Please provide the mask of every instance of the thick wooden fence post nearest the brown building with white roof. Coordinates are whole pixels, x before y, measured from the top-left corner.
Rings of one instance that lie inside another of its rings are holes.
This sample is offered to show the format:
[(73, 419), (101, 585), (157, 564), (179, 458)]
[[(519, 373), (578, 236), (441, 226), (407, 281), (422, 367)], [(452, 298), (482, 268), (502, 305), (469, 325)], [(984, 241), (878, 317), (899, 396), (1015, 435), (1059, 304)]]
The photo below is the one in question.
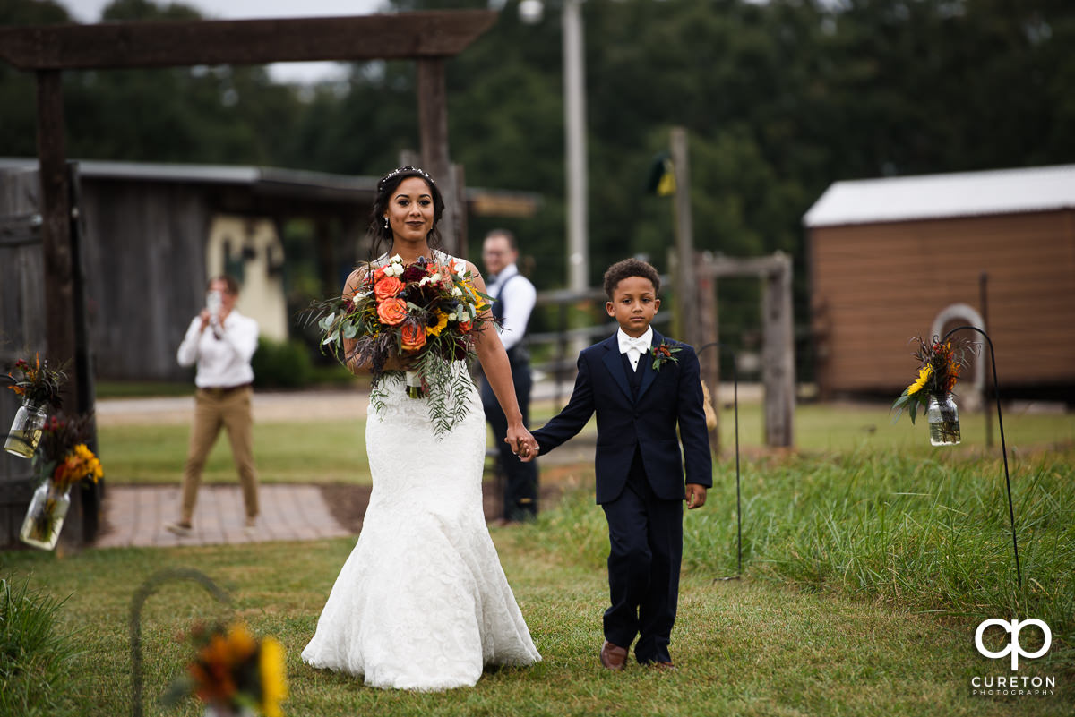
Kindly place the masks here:
[(765, 383), (765, 444), (794, 444), (796, 365), (791, 317), (791, 258), (777, 252), (764, 274), (762, 314)]

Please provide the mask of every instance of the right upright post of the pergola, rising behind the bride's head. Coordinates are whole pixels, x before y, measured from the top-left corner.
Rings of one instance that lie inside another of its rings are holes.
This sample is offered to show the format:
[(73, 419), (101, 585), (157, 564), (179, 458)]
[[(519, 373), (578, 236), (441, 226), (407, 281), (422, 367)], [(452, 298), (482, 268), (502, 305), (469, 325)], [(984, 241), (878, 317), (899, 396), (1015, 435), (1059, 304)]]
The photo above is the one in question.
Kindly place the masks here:
[(448, 159), (448, 97), (444, 77), (444, 58), (418, 60), (418, 131), (422, 169), (436, 181), (444, 197), (441, 219), (443, 249), (459, 257), (455, 181)]

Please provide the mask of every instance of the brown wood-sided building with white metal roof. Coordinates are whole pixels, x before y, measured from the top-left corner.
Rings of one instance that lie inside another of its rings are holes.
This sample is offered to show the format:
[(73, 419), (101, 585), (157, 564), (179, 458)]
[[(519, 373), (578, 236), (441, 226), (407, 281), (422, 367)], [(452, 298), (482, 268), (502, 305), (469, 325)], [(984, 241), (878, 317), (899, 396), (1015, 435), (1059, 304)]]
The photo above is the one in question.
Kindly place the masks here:
[(970, 324), (1002, 396), (1075, 403), (1075, 165), (838, 181), (804, 223), (822, 397), (894, 398), (908, 339)]

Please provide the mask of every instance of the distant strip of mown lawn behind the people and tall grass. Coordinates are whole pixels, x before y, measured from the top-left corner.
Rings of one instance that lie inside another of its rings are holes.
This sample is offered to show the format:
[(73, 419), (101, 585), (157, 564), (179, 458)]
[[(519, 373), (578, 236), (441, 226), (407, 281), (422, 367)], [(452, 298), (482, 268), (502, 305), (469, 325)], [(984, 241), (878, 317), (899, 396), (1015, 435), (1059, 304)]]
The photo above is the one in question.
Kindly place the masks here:
[[(534, 406), (533, 423), (553, 415), (549, 401)], [(1000, 434), (991, 414), (995, 450)], [(762, 410), (758, 403), (740, 407), (740, 445), (744, 454), (763, 449)], [(735, 447), (734, 413), (720, 411), (721, 455), (731, 457)], [(1038, 413), (1027, 410), (1004, 416), (1008, 451), (1018, 455), (1035, 447), (1075, 441), (1075, 413)], [(943, 449), (946, 455), (977, 456), (986, 451), (985, 416), (963, 412), (963, 443)], [(587, 433), (594, 433), (591, 421)], [(178, 483), (183, 474), (190, 427), (186, 424), (101, 426), (99, 443), (106, 478), (115, 483)], [(491, 439), (490, 439), (491, 441)], [(490, 442), (491, 444), (491, 442)], [(893, 424), (888, 407), (858, 404), (807, 404), (796, 411), (796, 447), (805, 453), (844, 453), (898, 449), (916, 456), (935, 455), (929, 444), (924, 420), (916, 425), (904, 416)], [(254, 450), (258, 472), (266, 483), (359, 483), (368, 485), (364, 421), (257, 423)], [(229, 483), (235, 470), (227, 438), (221, 434), (210, 454), (204, 480)]]

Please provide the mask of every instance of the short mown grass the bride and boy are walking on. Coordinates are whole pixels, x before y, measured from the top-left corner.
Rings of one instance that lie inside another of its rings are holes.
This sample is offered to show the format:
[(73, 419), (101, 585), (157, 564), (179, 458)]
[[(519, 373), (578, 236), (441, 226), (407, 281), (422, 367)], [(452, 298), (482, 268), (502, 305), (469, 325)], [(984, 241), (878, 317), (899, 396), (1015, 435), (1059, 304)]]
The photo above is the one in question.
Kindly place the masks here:
[[(596, 508), (593, 510), (597, 510)], [(688, 525), (693, 518), (688, 518)], [(312, 670), (302, 647), (352, 540), (298, 544), (89, 551), (66, 559), (5, 555), (4, 570), (31, 575), (70, 596), (60, 623), (81, 653), (77, 676), (55, 715), (129, 714), (127, 618), (133, 587), (156, 570), (195, 566), (234, 596), (230, 613), (198, 586), (161, 586), (143, 613), (147, 715), (200, 715), (188, 701), (154, 702), (175, 678), (186, 648), (175, 633), (198, 618), (233, 615), (287, 649), (290, 715), (1059, 715), (1064, 699), (1018, 702), (972, 698), (973, 674), (989, 665), (965, 625), (929, 615), (787, 589), (747, 575), (714, 583), (689, 571), (680, 588), (673, 654), (680, 669), (629, 665), (622, 674), (597, 661), (603, 570), (565, 556), (530, 530), (494, 538), (543, 661), (487, 673), (474, 689), (420, 694), (382, 691), (353, 677)], [(1071, 689), (1071, 677), (1066, 683)]]

